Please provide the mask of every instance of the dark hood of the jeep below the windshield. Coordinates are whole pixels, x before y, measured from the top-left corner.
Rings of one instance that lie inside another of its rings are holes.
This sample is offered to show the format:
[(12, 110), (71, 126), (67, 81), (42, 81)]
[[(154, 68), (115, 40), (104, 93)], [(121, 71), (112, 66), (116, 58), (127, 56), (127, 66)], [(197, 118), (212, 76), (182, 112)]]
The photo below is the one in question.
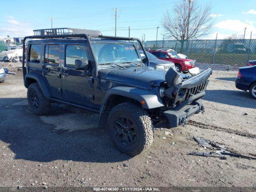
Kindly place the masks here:
[[(130, 86), (148, 89), (150, 85), (160, 86), (165, 81), (167, 70), (152, 67), (106, 68), (98, 71), (100, 79), (112, 80)], [(180, 73), (179, 73), (180, 74)], [(182, 78), (188, 78), (180, 74)]]

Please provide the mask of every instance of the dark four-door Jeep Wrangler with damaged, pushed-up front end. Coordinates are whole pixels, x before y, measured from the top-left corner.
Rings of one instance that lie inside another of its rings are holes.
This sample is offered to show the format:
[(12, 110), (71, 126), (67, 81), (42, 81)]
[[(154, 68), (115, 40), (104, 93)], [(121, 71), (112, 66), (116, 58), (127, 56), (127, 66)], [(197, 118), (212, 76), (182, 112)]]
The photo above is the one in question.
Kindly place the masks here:
[(47, 114), (51, 102), (98, 113), (117, 148), (134, 156), (152, 144), (154, 126), (184, 125), (204, 111), (199, 99), (211, 69), (188, 76), (151, 68), (137, 38), (74, 28), (34, 34), (24, 38), (22, 67), (28, 103), (37, 115)]

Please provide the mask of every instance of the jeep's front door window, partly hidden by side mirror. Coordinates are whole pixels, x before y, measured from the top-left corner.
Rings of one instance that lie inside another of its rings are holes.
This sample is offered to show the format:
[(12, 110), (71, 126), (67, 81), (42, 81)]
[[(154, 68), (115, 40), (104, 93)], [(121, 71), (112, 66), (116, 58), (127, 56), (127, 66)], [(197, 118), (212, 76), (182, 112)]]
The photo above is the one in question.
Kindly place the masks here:
[(84, 45), (66, 46), (66, 65), (75, 66), (75, 60), (88, 60)]

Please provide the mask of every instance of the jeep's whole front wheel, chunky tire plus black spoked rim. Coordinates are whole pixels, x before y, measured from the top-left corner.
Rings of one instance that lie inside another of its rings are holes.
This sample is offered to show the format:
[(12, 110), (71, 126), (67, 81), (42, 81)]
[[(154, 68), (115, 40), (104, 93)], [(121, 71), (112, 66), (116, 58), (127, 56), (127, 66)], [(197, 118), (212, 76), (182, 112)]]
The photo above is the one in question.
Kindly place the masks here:
[(108, 132), (116, 147), (135, 156), (153, 142), (153, 126), (148, 113), (133, 103), (115, 106), (108, 116)]

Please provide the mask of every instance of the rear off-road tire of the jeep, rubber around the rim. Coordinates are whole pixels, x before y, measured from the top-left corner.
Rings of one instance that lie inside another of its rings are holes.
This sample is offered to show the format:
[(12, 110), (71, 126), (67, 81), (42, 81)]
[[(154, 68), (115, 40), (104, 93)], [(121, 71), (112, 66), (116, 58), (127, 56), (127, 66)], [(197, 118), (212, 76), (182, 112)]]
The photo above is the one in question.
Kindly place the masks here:
[[(31, 100), (31, 94), (35, 93), (38, 98), (38, 107), (34, 107), (33, 101)], [(38, 83), (32, 83), (28, 86), (28, 104), (32, 112), (36, 115), (45, 115), (50, 112), (51, 102), (42, 93)]]

